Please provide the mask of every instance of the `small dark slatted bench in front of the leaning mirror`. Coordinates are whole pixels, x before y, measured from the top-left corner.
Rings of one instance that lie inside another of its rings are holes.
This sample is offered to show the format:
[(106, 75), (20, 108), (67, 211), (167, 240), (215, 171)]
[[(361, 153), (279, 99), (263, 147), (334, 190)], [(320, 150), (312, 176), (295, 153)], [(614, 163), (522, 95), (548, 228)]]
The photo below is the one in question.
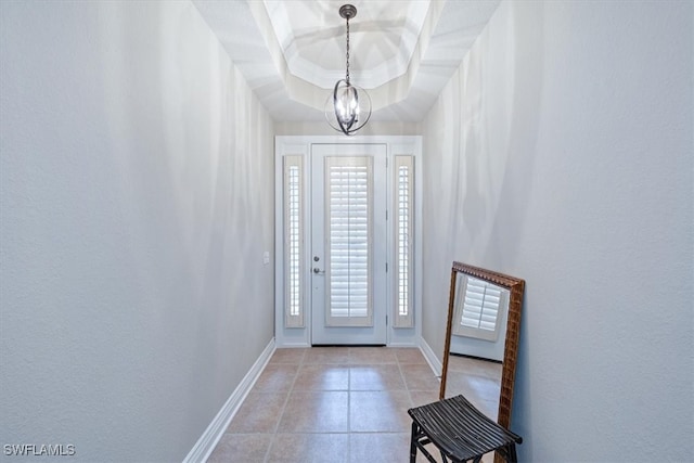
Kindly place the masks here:
[(415, 463), (417, 449), (437, 463), (424, 447), (428, 443), (439, 450), (445, 463), (477, 463), (494, 450), (507, 462), (517, 461), (516, 443), (522, 443), (523, 438), (487, 417), (463, 396), (410, 409), (408, 413), (412, 417), (410, 463)]

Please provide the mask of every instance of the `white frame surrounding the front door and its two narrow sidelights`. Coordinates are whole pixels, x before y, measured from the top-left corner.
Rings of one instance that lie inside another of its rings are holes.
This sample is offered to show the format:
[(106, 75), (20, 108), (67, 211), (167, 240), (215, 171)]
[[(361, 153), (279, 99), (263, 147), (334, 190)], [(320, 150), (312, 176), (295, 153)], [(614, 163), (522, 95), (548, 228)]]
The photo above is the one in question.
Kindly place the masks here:
[[(386, 157), (388, 166), (394, 166), (394, 157), (397, 155), (409, 155), (414, 159), (414, 241), (413, 241), (413, 326), (412, 327), (395, 327), (390, 320), (393, 312), (393, 279), (388, 279), (387, 287), (387, 313), (388, 324), (386, 326), (386, 345), (416, 347), (420, 344), (422, 334), (422, 137), (420, 136), (278, 136), (274, 139), (274, 204), (275, 204), (275, 313), (274, 313), (274, 337), (277, 347), (309, 347), (311, 345), (311, 279), (305, 278), (301, 283), (304, 294), (303, 308), (304, 324), (297, 327), (287, 327), (285, 324), (284, 303), (284, 157), (300, 156), (303, 157), (303, 176), (307, 181), (304, 182), (305, 191), (303, 194), (303, 207), (306, 211), (310, 210), (311, 184), (311, 146), (313, 144), (385, 144)], [(391, 172), (389, 167), (388, 172)], [(388, 173), (390, 175), (390, 173)], [(393, 189), (388, 191), (388, 204), (391, 204)], [(389, 213), (393, 216), (393, 213)], [(393, 236), (394, 220), (387, 222), (387, 233)], [(305, 268), (310, 269), (311, 259), (311, 236), (310, 236), (310, 214), (304, 214), (304, 247), (301, 257), (306, 262)], [(387, 262), (388, 268), (393, 268), (393, 245), (388, 246)], [(308, 271), (308, 270), (307, 270)]]

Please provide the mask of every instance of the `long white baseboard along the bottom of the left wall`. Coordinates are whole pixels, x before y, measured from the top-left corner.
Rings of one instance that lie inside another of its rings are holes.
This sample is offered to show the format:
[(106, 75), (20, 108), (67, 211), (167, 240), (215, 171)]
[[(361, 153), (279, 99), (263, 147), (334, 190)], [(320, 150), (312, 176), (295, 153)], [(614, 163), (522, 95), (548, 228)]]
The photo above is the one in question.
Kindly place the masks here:
[(260, 376), (268, 361), (270, 361), (274, 349), (274, 338), (272, 338), (262, 353), (260, 353), (260, 357), (258, 357), (258, 360), (256, 360), (248, 373), (243, 377), (241, 384), (239, 384), (221, 410), (219, 410), (217, 416), (215, 416), (209, 426), (207, 426), (207, 429), (205, 429), (200, 439), (197, 439), (197, 442), (195, 442), (195, 446), (188, 453), (183, 463), (204, 463), (207, 461), (215, 450), (215, 447), (217, 447), (217, 442), (219, 442), (219, 439), (223, 436), (224, 430), (229, 427), (229, 423), (231, 423), (231, 420), (246, 399), (253, 385), (256, 384), (258, 376)]

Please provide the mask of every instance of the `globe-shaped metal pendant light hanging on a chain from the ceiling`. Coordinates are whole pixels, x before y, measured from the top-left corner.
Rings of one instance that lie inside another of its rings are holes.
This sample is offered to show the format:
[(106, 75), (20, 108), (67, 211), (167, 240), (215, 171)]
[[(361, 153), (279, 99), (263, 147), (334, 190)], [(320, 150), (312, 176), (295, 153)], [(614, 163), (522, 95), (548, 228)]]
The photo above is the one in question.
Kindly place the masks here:
[(349, 81), (349, 20), (357, 15), (357, 9), (344, 4), (339, 8), (339, 15), (347, 21), (347, 70), (345, 78), (337, 80), (333, 93), (325, 101), (325, 118), (333, 129), (350, 136), (369, 121), (371, 98), (364, 89)]

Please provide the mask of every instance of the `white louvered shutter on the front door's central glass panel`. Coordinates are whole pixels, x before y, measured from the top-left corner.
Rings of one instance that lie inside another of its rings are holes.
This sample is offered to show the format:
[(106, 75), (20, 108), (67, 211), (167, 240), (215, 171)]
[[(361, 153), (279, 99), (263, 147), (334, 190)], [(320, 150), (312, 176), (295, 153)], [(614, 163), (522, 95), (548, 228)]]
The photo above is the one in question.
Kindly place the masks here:
[(325, 158), (327, 326), (373, 325), (373, 160)]

